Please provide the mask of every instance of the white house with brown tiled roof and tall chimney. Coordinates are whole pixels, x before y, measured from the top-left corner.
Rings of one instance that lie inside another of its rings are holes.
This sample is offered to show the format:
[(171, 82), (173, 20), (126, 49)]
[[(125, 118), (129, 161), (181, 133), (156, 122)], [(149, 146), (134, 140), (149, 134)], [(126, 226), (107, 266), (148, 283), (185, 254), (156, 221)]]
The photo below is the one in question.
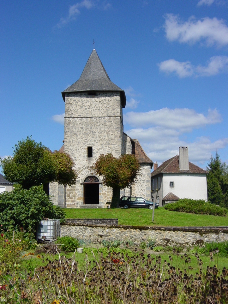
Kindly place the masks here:
[(151, 173), (151, 198), (164, 206), (179, 198), (203, 199), (207, 201), (208, 172), (188, 160), (188, 147), (179, 147), (176, 155), (161, 166), (154, 164)]

